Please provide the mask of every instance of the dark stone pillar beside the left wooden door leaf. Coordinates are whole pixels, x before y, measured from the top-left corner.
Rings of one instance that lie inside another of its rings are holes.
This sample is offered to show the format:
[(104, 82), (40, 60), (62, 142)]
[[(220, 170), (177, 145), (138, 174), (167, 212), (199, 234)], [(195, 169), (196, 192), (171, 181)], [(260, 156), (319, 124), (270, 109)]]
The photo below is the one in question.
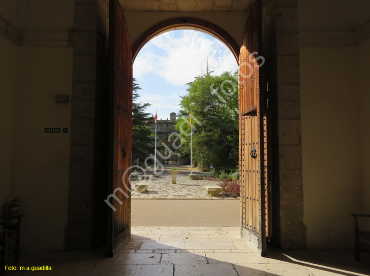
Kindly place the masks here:
[(75, 0), (67, 249), (106, 240), (109, 163), (109, 1)]

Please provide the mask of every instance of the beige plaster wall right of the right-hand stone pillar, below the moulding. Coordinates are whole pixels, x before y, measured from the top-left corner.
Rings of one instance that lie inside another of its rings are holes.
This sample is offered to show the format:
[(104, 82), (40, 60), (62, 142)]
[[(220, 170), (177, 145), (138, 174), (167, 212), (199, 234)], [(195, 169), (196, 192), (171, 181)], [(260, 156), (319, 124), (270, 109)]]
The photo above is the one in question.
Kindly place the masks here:
[(304, 223), (311, 249), (352, 248), (351, 213), (364, 210), (361, 199), (369, 198), (365, 49), (300, 49)]

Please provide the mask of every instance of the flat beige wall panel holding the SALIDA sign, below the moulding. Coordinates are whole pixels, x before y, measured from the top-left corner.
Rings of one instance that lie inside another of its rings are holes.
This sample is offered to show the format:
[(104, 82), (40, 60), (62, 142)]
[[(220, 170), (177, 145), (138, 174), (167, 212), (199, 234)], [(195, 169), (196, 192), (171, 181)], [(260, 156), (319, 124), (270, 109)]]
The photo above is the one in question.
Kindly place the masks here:
[(12, 196), (20, 197), (22, 246), (63, 249), (67, 224), (70, 134), (44, 128), (69, 128), (72, 48), (18, 47)]

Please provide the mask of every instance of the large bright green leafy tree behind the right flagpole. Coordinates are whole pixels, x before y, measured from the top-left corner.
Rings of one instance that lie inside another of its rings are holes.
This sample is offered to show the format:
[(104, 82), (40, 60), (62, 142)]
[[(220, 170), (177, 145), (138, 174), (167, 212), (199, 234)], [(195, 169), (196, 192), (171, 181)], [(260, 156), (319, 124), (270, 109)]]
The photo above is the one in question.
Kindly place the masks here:
[(190, 110), (193, 116), (193, 161), (204, 164), (235, 165), (238, 161), (238, 81), (235, 73), (212, 72), (197, 76), (188, 83), (182, 97), (177, 130), (183, 138), (182, 155), (190, 154)]

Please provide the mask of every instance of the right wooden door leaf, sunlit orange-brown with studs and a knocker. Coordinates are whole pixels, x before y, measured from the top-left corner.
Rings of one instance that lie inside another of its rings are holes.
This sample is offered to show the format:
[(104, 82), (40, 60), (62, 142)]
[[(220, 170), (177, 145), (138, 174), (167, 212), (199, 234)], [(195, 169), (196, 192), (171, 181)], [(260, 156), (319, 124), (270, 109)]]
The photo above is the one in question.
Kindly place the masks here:
[(239, 58), (241, 239), (264, 255), (268, 231), (267, 108), (264, 108), (260, 0), (248, 17)]

